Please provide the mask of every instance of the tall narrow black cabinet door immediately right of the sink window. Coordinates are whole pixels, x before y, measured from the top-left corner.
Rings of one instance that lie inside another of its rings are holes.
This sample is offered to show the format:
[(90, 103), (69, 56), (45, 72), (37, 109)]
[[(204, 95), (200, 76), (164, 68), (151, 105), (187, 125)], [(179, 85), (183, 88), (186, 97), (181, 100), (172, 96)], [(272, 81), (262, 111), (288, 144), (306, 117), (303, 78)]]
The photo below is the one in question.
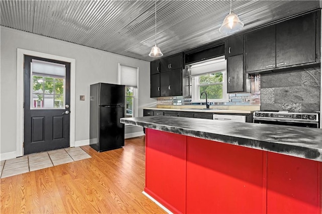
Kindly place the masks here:
[(243, 54), (227, 58), (227, 93), (244, 92)]

